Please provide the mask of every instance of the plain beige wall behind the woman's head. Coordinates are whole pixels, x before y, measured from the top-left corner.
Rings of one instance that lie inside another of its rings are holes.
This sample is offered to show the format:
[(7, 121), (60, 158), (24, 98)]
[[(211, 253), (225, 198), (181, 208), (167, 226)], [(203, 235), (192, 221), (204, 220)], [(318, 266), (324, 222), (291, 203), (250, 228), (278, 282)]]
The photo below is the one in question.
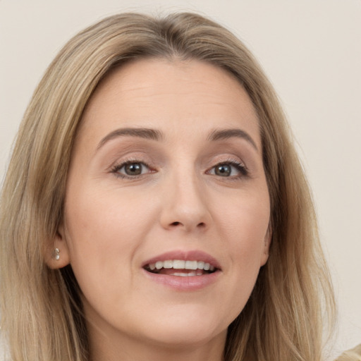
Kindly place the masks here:
[(119, 11), (178, 10), (233, 30), (276, 87), (334, 277), (334, 348), (361, 343), (361, 0), (0, 0), (0, 178), (32, 91), (66, 40)]

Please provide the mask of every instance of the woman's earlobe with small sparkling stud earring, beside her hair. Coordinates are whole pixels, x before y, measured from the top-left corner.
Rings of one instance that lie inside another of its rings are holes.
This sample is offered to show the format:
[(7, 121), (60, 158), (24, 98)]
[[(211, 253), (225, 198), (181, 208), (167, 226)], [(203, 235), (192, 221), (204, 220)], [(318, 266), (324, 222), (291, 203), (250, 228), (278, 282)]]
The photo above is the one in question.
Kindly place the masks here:
[(60, 269), (70, 263), (68, 244), (63, 226), (59, 227), (54, 240), (50, 240), (45, 250), (45, 263), (51, 269)]

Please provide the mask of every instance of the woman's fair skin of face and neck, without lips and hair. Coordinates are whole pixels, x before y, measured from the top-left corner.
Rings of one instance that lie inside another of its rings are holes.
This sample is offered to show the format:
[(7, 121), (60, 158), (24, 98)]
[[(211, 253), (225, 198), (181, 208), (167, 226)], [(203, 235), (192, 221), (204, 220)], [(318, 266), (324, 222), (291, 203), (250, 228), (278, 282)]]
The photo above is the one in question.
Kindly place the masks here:
[[(161, 139), (109, 136), (120, 128)], [(229, 129), (248, 138), (209, 140)], [(140, 164), (140, 175), (127, 176), (124, 162)], [(55, 240), (61, 259), (49, 260), (73, 267), (92, 360), (222, 360), (227, 327), (267, 262), (269, 212), (257, 115), (237, 80), (198, 61), (136, 61), (109, 74), (82, 118)], [(142, 268), (193, 250), (220, 266), (196, 290)]]

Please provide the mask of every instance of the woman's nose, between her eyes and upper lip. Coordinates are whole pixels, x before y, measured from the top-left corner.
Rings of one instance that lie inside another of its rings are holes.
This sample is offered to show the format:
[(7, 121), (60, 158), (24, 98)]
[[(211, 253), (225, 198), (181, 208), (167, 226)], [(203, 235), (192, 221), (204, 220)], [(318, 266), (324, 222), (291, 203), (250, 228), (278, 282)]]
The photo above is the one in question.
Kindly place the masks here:
[(187, 232), (206, 229), (212, 221), (206, 193), (195, 175), (171, 177), (163, 192), (161, 226)]

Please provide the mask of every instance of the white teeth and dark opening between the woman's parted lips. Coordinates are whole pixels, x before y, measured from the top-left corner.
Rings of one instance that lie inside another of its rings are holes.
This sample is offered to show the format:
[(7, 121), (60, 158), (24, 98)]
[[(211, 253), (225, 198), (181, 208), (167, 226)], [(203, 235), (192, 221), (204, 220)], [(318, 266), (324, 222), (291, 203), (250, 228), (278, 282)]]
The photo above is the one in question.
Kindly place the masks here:
[(164, 261), (152, 262), (145, 264), (143, 269), (152, 274), (178, 277), (204, 276), (219, 270), (214, 264), (209, 262), (184, 259), (166, 259)]

